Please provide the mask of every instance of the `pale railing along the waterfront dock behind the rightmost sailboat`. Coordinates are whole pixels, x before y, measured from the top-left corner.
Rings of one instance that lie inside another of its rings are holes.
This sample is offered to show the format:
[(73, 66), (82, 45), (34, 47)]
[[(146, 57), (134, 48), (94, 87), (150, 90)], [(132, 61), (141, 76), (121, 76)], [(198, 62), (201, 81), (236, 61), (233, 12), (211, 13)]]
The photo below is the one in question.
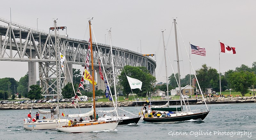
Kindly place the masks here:
[[(205, 96), (204, 96), (205, 98)], [(187, 98), (184, 98), (185, 100), (187, 100)], [(202, 96), (198, 96), (198, 97), (188, 97), (188, 100), (202, 100), (203, 97)], [(169, 100), (180, 100), (180, 97), (169, 97)], [(132, 98), (132, 102), (147, 102), (147, 101), (167, 101), (167, 97), (159, 97), (159, 98)]]

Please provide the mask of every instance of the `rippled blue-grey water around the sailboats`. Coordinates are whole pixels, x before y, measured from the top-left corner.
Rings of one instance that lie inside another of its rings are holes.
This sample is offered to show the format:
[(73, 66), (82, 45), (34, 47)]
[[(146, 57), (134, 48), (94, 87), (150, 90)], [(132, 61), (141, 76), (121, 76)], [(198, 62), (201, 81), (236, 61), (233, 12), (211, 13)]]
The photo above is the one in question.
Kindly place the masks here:
[[(190, 107), (197, 108), (198, 105), (190, 105)], [(163, 124), (139, 121), (138, 125), (118, 126), (114, 131), (78, 134), (57, 130), (26, 130), (23, 128), (23, 119), (30, 110), (0, 110), (2, 119), (0, 139), (256, 139), (255, 103), (214, 104), (208, 107), (211, 107), (211, 111), (203, 121)], [(137, 107), (123, 109), (138, 114)], [(82, 112), (86, 110), (88, 109), (81, 109)], [(78, 111), (78, 109), (65, 109), (66, 114), (78, 113)], [(35, 113), (36, 110), (32, 110), (32, 114)]]

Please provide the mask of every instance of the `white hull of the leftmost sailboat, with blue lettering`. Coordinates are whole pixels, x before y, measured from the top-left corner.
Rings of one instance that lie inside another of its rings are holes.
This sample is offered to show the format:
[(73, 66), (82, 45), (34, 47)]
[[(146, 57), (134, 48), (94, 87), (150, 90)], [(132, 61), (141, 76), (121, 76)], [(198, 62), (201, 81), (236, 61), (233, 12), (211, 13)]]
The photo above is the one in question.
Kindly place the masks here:
[(36, 122), (25, 122), (23, 127), (27, 130), (56, 129), (57, 126), (64, 126), (66, 123), (68, 123), (67, 119), (46, 119), (37, 120)]

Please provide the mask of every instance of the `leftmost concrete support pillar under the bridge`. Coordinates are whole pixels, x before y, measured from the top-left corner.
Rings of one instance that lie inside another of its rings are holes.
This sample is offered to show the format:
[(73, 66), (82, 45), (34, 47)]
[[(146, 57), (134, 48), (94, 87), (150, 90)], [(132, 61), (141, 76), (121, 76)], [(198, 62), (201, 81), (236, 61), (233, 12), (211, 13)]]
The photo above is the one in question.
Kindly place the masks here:
[(36, 85), (36, 62), (28, 62), (28, 85)]

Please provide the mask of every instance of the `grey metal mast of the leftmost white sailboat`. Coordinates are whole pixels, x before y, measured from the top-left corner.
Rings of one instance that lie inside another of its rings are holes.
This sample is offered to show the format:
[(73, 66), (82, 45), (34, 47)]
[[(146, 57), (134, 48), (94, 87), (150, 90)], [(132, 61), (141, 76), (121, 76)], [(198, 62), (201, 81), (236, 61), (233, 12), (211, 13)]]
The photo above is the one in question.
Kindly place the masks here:
[(60, 94), (60, 60), (59, 60), (59, 56), (60, 56), (60, 49), (59, 49), (59, 45), (57, 46), (57, 27), (56, 27), (56, 20), (54, 20), (54, 35), (55, 35), (55, 57), (56, 57), (56, 82), (57, 82), (57, 99), (58, 99), (58, 104), (57, 104), (57, 114), (58, 114), (58, 118), (60, 118), (60, 111), (59, 111), (59, 94)]

